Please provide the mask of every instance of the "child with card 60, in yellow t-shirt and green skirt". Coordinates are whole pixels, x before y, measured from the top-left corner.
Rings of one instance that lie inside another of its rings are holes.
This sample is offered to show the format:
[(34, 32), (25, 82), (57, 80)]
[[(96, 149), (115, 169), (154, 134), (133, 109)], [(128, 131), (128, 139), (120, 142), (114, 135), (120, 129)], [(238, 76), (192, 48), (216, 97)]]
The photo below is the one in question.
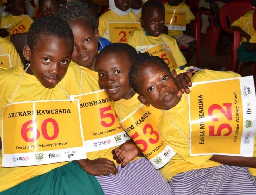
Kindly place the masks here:
[[(60, 88), (56, 84), (67, 71), (73, 48), (72, 30), (63, 20), (45, 16), (31, 24), (28, 45), (24, 46), (24, 57), (30, 66), (25, 71), (23, 67), (0, 68), (0, 113), (8, 103), (51, 99), (53, 88)], [(61, 89), (59, 92), (63, 93)], [(1, 128), (2, 125), (2, 136)], [(0, 194), (86, 192), (103, 195), (95, 177), (87, 174), (75, 161), (25, 167), (0, 166), (0, 191)]]

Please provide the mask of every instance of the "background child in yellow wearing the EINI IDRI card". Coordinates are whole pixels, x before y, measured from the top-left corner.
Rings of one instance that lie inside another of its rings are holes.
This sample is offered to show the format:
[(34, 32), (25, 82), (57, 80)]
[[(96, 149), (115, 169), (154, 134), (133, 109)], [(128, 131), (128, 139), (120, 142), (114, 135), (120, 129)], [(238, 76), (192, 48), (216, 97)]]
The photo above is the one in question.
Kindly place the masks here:
[(134, 30), (128, 44), (137, 51), (143, 52), (157, 44), (166, 43), (172, 50), (172, 55), (179, 68), (187, 64), (174, 38), (162, 33), (164, 30), (165, 8), (158, 0), (149, 0), (142, 6), (141, 27)]

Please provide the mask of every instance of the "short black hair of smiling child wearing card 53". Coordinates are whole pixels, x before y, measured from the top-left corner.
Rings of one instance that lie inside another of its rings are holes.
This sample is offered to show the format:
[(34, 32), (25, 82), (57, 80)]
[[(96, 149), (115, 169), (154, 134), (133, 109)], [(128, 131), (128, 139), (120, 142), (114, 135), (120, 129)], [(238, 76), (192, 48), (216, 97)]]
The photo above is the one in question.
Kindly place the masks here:
[(97, 59), (109, 53), (124, 53), (126, 57), (126, 59), (124, 60), (127, 60), (130, 65), (132, 65), (136, 61), (137, 51), (134, 49), (133, 46), (130, 46), (126, 43), (112, 43), (110, 45), (107, 45), (100, 51)]

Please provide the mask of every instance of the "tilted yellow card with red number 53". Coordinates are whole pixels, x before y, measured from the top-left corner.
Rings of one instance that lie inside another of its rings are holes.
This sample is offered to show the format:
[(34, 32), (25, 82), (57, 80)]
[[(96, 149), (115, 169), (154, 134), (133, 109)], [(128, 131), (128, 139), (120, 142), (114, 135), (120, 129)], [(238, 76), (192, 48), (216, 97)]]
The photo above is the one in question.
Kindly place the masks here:
[(142, 104), (119, 122), (155, 169), (163, 167), (175, 155), (157, 131), (161, 114), (162, 110)]

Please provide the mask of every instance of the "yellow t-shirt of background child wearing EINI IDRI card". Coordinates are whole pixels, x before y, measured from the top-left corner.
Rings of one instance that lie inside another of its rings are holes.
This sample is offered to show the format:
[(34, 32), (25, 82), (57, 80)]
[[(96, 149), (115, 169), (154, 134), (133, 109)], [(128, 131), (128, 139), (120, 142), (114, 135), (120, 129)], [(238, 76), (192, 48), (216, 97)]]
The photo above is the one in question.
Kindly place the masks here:
[(179, 46), (176, 40), (164, 33), (158, 37), (147, 36), (144, 29), (137, 29), (131, 33), (131, 36), (128, 40), (128, 44), (133, 46), (137, 51), (143, 52), (146, 49), (151, 48), (154, 45), (161, 43), (166, 43), (172, 50), (172, 55), (175, 58), (175, 61), (178, 67), (181, 67), (187, 64), (185, 57), (182, 52), (179, 50)]

